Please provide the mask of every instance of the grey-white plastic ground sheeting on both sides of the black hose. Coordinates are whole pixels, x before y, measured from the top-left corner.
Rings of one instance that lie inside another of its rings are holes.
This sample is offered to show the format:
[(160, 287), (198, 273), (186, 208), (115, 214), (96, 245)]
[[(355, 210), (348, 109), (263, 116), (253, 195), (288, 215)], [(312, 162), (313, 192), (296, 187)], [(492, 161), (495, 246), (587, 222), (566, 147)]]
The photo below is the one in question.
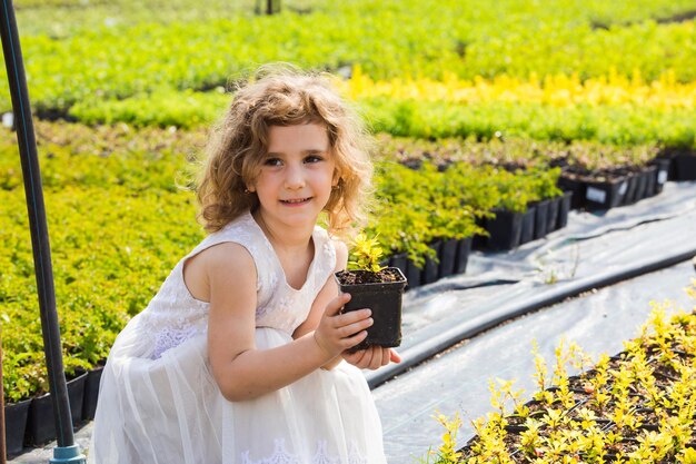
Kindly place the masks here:
[[(669, 182), (628, 207), (574, 211), (568, 227), (545, 239), (510, 253), (475, 253), (466, 275), (407, 293), (400, 349), (417, 352), (457, 325), (524, 306), (554, 287), (689, 250), (696, 250), (696, 182)], [(650, 299), (678, 299), (690, 309), (683, 288), (693, 276), (685, 263), (588, 293), (489, 329), (377, 387), (389, 463), (411, 463), (438, 444), (436, 411), (463, 415), (464, 444), (468, 421), (490, 411), (489, 378), (518, 378), (518, 387), (535, 391), (534, 338), (549, 364), (561, 337), (590, 353), (616, 353), (647, 318)]]

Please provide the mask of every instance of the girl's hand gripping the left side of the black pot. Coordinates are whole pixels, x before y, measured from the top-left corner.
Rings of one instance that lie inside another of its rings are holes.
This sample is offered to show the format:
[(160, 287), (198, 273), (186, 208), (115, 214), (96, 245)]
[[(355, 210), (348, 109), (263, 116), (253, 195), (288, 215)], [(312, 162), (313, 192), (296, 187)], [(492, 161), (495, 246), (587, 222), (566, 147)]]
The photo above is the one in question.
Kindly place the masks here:
[(334, 358), (352, 348), (367, 337), (367, 330), (372, 325), (372, 314), (369, 309), (358, 309), (340, 314), (341, 308), (350, 300), (349, 294), (341, 294), (327, 306), (319, 325), (315, 330), (317, 345), (330, 358)]

